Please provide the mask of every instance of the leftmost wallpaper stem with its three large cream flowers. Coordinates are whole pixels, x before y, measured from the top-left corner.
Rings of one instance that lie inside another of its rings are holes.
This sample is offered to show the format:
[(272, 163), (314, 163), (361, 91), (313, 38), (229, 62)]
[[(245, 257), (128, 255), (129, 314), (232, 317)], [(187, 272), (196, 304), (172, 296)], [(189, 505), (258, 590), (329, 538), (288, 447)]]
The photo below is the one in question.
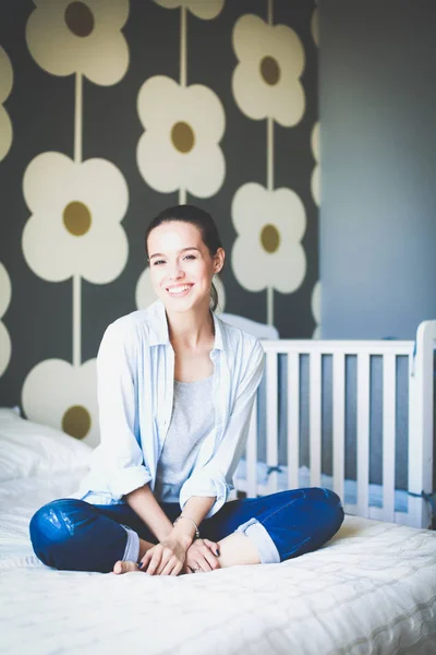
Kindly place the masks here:
[[(23, 179), (32, 212), (23, 230), (24, 258), (35, 275), (47, 282), (72, 279), (73, 355), (72, 362), (56, 358), (55, 353), (53, 358), (38, 362), (24, 380), (22, 404), (29, 418), (90, 445), (99, 438), (96, 359), (82, 362), (82, 278), (108, 284), (121, 274), (129, 257), (121, 226), (129, 205), (124, 177), (111, 162), (82, 158), (83, 75), (95, 84), (110, 85), (119, 82), (129, 67), (121, 33), (129, 2), (111, 0), (110, 4), (92, 0), (66, 8), (41, 3), (26, 26), (35, 61), (51, 74), (75, 75), (74, 158), (43, 152), (28, 164)], [(50, 34), (48, 25), (53, 29)]]

